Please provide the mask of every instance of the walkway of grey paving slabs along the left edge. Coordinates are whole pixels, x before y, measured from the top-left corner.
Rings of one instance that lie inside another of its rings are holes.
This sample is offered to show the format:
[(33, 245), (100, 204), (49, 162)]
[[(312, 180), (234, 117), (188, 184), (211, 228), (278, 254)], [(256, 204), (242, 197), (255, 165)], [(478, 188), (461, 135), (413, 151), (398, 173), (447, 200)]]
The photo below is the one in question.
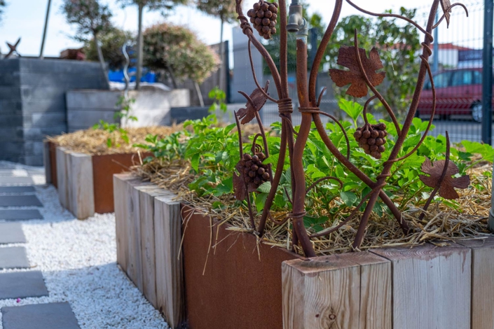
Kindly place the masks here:
[[(22, 221), (42, 219), (33, 174), (0, 167), (0, 300), (48, 296), (43, 273), (30, 269)], [(2, 307), (4, 329), (79, 329), (68, 302)]]

